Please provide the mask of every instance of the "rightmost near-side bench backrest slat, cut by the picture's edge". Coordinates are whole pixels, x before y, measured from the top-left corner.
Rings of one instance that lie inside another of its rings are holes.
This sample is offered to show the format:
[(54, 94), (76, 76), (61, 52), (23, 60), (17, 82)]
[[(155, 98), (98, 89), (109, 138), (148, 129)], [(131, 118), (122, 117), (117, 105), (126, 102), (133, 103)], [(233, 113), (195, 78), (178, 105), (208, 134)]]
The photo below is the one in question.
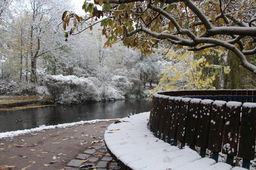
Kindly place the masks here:
[(238, 156), (253, 160), (256, 136), (256, 103), (244, 103), (242, 107)]

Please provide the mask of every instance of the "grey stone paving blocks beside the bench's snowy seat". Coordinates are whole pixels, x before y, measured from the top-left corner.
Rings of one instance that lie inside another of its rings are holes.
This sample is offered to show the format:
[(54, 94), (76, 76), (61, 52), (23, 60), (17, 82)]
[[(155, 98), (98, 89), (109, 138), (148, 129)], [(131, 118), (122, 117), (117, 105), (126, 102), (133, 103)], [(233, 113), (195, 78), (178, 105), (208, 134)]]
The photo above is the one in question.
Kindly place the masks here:
[(105, 145), (99, 143), (89, 148), (90, 149), (86, 149), (75, 159), (72, 159), (67, 164), (67, 167), (70, 168), (66, 168), (66, 170), (88, 169), (88, 167), (91, 167), (92, 169), (95, 167), (97, 170), (121, 169), (118, 163), (109, 155)]

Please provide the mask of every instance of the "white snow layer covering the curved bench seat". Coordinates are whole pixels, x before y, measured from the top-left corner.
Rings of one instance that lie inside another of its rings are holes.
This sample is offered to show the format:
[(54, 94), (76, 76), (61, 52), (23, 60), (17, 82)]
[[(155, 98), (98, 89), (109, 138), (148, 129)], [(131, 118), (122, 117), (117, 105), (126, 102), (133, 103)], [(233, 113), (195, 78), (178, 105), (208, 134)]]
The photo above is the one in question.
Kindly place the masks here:
[[(202, 158), (185, 146), (179, 149), (154, 137), (148, 129), (150, 112), (120, 119), (105, 131), (104, 139), (108, 150), (118, 163), (134, 170), (230, 170), (226, 163), (216, 163), (213, 159)], [(234, 169), (233, 170), (242, 170)]]

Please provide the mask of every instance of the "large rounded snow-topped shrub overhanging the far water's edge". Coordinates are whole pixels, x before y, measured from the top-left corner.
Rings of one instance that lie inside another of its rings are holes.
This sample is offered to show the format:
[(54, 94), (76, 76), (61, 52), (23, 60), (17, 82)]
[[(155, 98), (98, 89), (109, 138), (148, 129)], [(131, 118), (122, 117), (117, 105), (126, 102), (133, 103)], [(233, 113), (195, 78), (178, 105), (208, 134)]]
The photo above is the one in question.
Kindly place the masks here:
[(88, 78), (51, 75), (45, 78), (45, 85), (57, 103), (71, 104), (85, 101), (99, 101), (97, 89)]

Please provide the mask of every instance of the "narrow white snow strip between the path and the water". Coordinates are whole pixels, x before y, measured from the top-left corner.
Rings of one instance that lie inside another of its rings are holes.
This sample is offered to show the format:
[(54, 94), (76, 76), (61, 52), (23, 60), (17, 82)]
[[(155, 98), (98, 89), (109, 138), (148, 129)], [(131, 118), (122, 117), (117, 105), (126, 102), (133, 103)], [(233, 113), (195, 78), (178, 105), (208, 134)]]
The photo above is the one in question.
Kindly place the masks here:
[(0, 133), (0, 139), (13, 137), (13, 136), (18, 136), (20, 134), (34, 133), (36, 131), (43, 131), (43, 130), (47, 130), (47, 129), (66, 128), (66, 127), (71, 127), (71, 126), (83, 125), (83, 124), (86, 124), (86, 123), (97, 123), (97, 122), (102, 122), (102, 121), (110, 121), (110, 120), (118, 120), (118, 119), (120, 119), (120, 118), (116, 118), (116, 119), (96, 119), (96, 120), (79, 121), (79, 122), (64, 123), (64, 124), (51, 125), (51, 126), (42, 125), (42, 126), (39, 126), (39, 127), (33, 128), (33, 129), (3, 132), (3, 133)]

